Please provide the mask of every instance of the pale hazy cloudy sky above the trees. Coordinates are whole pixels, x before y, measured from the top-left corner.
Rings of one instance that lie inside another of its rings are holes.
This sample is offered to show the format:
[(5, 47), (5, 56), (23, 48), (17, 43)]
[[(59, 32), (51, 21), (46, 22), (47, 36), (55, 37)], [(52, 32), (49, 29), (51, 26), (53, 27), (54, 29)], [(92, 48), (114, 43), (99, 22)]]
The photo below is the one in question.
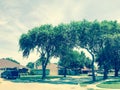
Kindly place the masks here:
[(23, 58), (19, 51), (23, 33), (43, 24), (83, 19), (119, 22), (120, 0), (0, 0), (0, 58), (10, 57), (22, 65), (34, 62), (39, 54)]

